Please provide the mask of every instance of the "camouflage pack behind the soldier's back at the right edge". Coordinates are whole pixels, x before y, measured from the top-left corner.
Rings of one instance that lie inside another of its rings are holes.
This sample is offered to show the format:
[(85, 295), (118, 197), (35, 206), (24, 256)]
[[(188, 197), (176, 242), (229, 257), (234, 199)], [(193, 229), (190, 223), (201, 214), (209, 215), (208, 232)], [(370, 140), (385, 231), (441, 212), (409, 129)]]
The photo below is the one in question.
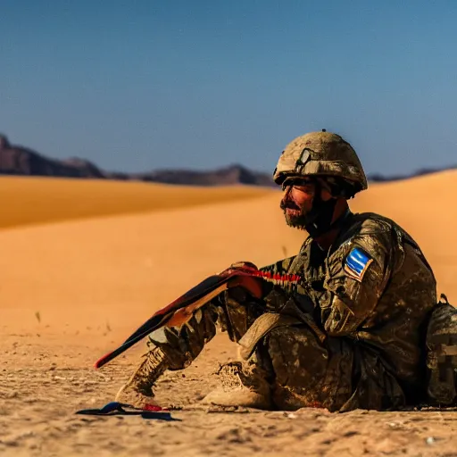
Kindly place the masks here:
[(457, 404), (457, 309), (445, 295), (441, 298), (428, 322), (428, 396), (434, 403), (453, 406)]

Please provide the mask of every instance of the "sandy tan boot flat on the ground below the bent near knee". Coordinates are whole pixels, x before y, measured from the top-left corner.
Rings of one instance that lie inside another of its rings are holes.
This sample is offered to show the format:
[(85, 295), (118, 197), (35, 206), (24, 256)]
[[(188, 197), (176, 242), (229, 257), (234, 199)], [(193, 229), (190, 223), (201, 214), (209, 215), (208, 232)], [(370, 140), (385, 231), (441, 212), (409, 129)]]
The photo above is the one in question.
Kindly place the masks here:
[(228, 362), (220, 367), (220, 386), (204, 397), (201, 403), (217, 406), (241, 406), (271, 410), (269, 383), (252, 370), (243, 370), (242, 363)]

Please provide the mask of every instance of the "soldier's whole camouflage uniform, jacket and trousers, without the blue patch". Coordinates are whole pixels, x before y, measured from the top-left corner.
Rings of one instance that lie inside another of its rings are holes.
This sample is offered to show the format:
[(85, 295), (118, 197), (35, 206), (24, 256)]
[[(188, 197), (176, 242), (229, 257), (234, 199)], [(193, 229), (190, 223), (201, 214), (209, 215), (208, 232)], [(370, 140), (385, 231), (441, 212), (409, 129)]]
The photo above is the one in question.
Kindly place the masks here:
[[(373, 259), (362, 278), (345, 271), (355, 247)], [(436, 306), (436, 283), (418, 245), (392, 220), (349, 213), (328, 252), (308, 238), (298, 255), (262, 270), (303, 281), (295, 291), (272, 287), (263, 303), (234, 289), (182, 328), (153, 334), (173, 369), (195, 359), (217, 323), (247, 342), (245, 365), (258, 365), (280, 409), (381, 410), (424, 397), (421, 328)], [(266, 313), (278, 320), (257, 335), (253, 323)]]

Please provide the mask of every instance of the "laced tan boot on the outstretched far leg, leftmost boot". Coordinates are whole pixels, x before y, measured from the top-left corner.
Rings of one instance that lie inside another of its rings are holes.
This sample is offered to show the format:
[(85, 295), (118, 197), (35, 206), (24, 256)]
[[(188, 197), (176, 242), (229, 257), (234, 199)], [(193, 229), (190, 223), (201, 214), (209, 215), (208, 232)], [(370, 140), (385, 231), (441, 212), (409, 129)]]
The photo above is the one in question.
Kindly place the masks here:
[(155, 381), (169, 368), (168, 358), (160, 347), (154, 347), (145, 355), (137, 370), (120, 387), (116, 402), (128, 403), (141, 408), (145, 404), (154, 404), (153, 387)]

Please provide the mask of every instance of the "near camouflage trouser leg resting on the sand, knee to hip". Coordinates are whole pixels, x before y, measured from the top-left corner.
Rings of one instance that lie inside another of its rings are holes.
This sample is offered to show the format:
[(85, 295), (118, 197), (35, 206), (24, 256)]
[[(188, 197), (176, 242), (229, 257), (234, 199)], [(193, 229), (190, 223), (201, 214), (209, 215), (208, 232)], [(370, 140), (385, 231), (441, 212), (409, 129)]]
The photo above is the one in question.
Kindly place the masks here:
[(387, 410), (405, 404), (402, 388), (377, 353), (345, 337), (322, 340), (306, 323), (271, 329), (243, 366), (270, 384), (279, 410)]

